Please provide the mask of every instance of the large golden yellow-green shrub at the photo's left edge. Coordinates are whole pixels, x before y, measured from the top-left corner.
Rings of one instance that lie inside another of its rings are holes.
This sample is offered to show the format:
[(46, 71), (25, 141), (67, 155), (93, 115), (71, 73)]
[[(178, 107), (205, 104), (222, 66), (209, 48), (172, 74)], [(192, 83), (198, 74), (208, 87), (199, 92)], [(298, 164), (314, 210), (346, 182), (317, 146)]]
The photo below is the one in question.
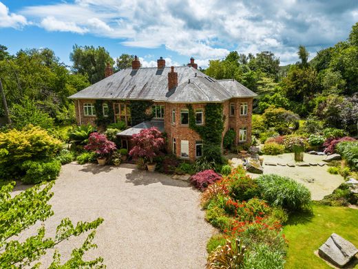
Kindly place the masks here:
[(51, 159), (60, 148), (61, 141), (36, 126), (0, 132), (0, 178), (21, 177), (24, 161)]

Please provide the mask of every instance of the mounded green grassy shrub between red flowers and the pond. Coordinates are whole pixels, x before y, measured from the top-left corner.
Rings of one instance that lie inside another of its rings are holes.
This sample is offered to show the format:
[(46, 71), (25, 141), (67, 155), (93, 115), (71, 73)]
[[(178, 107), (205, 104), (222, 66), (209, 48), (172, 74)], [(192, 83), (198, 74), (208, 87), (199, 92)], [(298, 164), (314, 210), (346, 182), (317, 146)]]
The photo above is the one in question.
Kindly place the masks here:
[(310, 191), (301, 183), (279, 175), (261, 175), (256, 179), (262, 198), (273, 206), (289, 211), (310, 208)]

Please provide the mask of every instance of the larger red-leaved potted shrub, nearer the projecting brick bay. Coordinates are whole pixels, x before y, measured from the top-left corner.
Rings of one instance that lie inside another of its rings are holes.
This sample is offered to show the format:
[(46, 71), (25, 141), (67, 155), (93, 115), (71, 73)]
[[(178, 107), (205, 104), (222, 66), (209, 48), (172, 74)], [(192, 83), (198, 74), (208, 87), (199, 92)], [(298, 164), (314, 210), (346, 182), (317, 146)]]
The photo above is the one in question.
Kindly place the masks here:
[(129, 151), (129, 155), (134, 159), (144, 158), (148, 160), (147, 168), (153, 172), (156, 169), (156, 163), (153, 159), (164, 147), (165, 140), (162, 133), (156, 127), (140, 130), (139, 134), (132, 135), (134, 147)]

